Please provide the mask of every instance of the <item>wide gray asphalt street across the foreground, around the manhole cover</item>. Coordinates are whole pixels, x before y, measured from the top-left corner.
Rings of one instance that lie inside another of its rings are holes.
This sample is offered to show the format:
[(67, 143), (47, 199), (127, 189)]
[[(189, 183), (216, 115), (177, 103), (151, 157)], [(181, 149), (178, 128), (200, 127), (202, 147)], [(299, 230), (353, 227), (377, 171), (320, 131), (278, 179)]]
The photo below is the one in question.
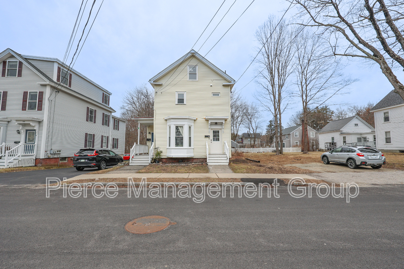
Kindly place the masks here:
[[(357, 198), (63, 198), (0, 188), (2, 268), (403, 268), (404, 187)], [(170, 197), (170, 193), (169, 193)], [(135, 235), (160, 215), (176, 225)]]

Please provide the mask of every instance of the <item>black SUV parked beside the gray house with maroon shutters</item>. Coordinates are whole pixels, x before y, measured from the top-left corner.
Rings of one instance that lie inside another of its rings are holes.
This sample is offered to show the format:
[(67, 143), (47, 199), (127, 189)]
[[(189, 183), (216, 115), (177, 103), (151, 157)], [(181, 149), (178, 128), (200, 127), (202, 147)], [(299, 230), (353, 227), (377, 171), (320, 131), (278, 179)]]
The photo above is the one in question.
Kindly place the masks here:
[(123, 158), (109, 149), (82, 148), (74, 154), (73, 158), (73, 166), (78, 171), (94, 167), (103, 170), (107, 166), (115, 166), (122, 162)]

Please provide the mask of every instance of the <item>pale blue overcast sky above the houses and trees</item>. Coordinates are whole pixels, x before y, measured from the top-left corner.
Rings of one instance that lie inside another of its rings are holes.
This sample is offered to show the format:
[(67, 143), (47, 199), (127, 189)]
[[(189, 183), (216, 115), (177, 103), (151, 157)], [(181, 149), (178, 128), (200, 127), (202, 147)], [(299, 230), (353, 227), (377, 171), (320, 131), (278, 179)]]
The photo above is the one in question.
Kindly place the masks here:
[[(96, 1), (93, 16), (101, 2)], [(119, 115), (125, 91), (147, 83), (151, 77), (188, 52), (222, 3), (222, 0), (105, 0), (74, 69), (113, 93), (110, 104)], [(204, 56), (212, 48), (251, 1), (236, 1), (213, 35), (199, 49), (233, 3), (233, 0), (226, 0), (195, 45), (194, 49), (201, 55)], [(4, 1), (0, 51), (10, 47), (22, 55), (63, 60), (80, 4), (80, 0)], [(91, 4), (92, 0), (89, 0), (86, 14)], [(257, 28), (270, 14), (281, 17), (287, 6), (288, 3), (284, 1), (256, 0), (206, 58), (237, 80), (256, 55), (258, 44), (254, 34)], [(286, 17), (292, 16), (293, 12), (290, 10)], [(83, 16), (72, 51), (77, 46), (86, 16)], [(93, 16), (87, 27), (92, 23)], [(68, 63), (71, 57), (72, 53)], [(241, 89), (254, 78), (254, 70), (252, 65), (235, 88)], [(332, 103), (377, 103), (392, 90), (377, 66), (351, 62), (345, 73), (359, 81), (350, 86), (349, 94), (335, 97)], [(147, 86), (151, 88), (148, 83)], [(252, 97), (256, 87), (257, 84), (251, 82), (242, 89), (242, 95), (256, 102)], [(283, 116), (284, 126), (290, 115), (301, 109), (298, 102), (291, 107)], [(267, 112), (263, 112), (263, 115), (266, 124), (271, 117)]]

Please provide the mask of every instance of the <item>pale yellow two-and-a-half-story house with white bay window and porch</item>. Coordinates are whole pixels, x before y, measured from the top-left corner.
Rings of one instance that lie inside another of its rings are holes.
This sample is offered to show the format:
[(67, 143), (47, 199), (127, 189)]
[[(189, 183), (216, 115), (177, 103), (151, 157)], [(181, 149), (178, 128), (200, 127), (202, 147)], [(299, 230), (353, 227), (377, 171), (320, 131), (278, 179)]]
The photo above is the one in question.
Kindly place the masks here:
[(148, 164), (155, 147), (162, 151), (162, 163), (228, 164), (235, 80), (191, 50), (149, 83), (155, 91), (155, 114), (134, 119), (147, 126), (148, 141), (132, 147), (130, 165)]

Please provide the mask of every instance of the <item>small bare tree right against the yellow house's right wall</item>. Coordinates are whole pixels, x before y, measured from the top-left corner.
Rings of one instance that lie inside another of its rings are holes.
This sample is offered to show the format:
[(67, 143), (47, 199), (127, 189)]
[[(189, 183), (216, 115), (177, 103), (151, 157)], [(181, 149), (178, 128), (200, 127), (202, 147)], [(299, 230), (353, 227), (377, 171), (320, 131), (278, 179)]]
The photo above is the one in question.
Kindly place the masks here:
[(235, 89), (230, 93), (231, 139), (236, 141), (240, 126), (245, 121), (245, 108), (247, 104)]

